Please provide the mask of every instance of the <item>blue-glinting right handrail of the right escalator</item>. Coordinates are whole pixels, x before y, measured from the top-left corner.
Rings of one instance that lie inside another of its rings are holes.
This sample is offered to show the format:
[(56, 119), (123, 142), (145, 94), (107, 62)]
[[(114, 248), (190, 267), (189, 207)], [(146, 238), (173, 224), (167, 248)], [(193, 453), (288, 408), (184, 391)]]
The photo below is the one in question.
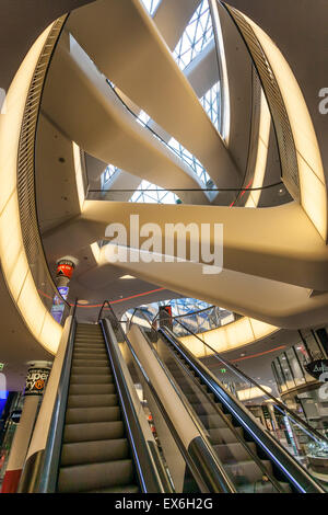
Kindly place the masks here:
[(160, 328), (159, 332), (191, 365), (211, 392), (220, 399), (220, 402), (229, 409), (230, 413), (242, 424), (244, 430), (259, 444), (270, 461), (273, 461), (283, 476), (290, 479), (296, 491), (301, 493), (326, 493), (307, 470), (281, 445), (278, 445), (278, 442), (269, 432), (260, 427), (255, 417), (247, 413), (245, 407), (229, 390), (222, 387), (218, 378), (177, 340), (168, 328)]

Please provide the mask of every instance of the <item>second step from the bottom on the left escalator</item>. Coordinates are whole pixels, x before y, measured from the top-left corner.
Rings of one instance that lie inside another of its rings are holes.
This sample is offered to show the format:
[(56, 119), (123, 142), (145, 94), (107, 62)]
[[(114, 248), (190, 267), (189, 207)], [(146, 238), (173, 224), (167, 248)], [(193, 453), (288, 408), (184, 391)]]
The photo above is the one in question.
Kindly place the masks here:
[(117, 461), (129, 457), (126, 438), (63, 444), (61, 467)]

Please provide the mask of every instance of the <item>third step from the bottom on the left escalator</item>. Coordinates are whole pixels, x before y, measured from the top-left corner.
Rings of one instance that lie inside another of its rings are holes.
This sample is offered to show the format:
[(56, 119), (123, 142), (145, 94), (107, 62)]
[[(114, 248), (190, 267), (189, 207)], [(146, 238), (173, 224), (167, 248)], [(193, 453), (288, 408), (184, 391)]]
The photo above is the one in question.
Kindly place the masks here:
[(68, 424), (63, 431), (63, 442), (92, 442), (108, 438), (122, 438), (125, 427), (122, 421), (90, 422), (83, 424)]

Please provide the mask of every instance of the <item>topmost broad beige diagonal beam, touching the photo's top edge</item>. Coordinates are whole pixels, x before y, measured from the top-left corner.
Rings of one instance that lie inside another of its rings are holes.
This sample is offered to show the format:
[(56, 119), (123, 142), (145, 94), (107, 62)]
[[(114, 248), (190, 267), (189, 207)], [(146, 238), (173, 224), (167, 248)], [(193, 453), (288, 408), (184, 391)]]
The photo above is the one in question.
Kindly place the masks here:
[(232, 156), (139, 0), (98, 1), (73, 12), (67, 28), (109, 80), (199, 159), (218, 186), (238, 184)]

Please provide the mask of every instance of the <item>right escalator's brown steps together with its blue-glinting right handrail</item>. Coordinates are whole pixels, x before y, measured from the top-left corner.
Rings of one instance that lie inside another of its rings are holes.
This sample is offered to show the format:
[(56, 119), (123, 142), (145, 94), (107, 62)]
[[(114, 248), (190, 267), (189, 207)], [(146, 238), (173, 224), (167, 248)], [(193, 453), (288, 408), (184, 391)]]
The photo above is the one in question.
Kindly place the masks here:
[(238, 492), (325, 493), (172, 330), (162, 328), (159, 333), (166, 347), (160, 352), (161, 357), (208, 431)]

